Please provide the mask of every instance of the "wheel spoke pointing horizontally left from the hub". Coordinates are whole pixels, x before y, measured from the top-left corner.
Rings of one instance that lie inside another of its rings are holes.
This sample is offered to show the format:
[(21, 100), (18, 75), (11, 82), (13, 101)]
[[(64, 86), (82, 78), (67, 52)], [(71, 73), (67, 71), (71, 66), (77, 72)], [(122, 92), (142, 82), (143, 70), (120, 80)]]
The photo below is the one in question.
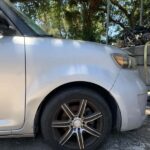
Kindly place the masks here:
[(71, 121), (53, 121), (52, 127), (53, 128), (65, 128), (70, 127)]

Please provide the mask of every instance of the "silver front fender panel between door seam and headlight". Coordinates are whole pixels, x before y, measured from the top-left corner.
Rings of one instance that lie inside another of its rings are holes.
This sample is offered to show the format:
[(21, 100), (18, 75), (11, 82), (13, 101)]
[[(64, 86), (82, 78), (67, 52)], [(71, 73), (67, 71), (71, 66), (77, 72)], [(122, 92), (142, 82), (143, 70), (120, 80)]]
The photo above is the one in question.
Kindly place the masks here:
[(109, 91), (120, 70), (111, 57), (120, 51), (96, 43), (26, 37), (25, 49), (26, 114), (19, 133), (33, 133), (40, 104), (56, 88), (81, 81)]

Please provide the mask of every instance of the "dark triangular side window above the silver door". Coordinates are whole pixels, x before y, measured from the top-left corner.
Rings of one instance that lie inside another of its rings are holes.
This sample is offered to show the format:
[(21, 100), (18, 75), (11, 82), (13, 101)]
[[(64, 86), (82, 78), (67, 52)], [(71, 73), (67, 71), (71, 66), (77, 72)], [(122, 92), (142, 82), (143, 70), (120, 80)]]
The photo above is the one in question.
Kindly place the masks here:
[(2, 36), (15, 36), (19, 35), (19, 32), (10, 22), (10, 20), (0, 10), (0, 35)]

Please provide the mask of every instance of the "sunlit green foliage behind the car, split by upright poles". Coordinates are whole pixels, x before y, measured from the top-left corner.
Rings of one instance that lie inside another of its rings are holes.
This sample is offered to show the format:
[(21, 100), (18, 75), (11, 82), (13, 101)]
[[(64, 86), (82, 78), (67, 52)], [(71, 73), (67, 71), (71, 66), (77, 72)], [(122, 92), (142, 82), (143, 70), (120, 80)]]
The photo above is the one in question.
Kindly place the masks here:
[[(47, 33), (56, 37), (100, 42), (106, 36), (107, 0), (12, 1)], [(126, 27), (139, 25), (141, 0), (110, 1), (110, 42), (113, 42), (121, 38)], [(150, 1), (143, 1), (143, 24), (149, 26)]]

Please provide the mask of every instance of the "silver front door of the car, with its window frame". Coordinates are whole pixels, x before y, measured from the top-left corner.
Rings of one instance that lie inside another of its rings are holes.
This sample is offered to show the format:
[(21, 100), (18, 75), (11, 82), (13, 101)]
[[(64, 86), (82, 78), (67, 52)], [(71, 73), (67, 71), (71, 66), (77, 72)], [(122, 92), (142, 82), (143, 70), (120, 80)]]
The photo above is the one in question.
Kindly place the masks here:
[(0, 29), (0, 134), (8, 134), (24, 123), (25, 49), (24, 37), (0, 10), (1, 16), (16, 31)]

